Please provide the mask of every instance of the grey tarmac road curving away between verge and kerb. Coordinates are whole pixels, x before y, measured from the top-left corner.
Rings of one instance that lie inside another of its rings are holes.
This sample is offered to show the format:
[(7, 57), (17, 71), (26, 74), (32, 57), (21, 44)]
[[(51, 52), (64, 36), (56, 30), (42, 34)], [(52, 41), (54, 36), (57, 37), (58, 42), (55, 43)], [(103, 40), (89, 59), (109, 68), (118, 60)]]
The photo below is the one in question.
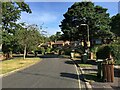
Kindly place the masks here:
[(79, 88), (71, 60), (43, 58), (27, 69), (2, 78), (2, 88)]

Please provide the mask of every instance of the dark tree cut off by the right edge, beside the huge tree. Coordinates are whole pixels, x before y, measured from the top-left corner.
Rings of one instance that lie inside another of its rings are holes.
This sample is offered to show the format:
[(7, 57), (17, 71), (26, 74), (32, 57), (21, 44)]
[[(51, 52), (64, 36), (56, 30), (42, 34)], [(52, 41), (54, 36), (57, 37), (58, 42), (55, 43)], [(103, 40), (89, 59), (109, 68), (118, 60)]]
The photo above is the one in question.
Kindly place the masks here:
[(111, 32), (120, 37), (120, 14), (117, 14), (111, 18)]

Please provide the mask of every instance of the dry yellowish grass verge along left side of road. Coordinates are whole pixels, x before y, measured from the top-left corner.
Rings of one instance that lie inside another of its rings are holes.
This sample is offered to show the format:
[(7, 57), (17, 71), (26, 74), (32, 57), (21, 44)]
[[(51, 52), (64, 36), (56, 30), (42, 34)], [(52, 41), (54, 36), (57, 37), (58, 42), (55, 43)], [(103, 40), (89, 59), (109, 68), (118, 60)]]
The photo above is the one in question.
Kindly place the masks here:
[(26, 58), (25, 60), (23, 58), (14, 58), (6, 60), (0, 62), (0, 74), (5, 74), (16, 69), (27, 67), (39, 61), (41, 61), (40, 58)]

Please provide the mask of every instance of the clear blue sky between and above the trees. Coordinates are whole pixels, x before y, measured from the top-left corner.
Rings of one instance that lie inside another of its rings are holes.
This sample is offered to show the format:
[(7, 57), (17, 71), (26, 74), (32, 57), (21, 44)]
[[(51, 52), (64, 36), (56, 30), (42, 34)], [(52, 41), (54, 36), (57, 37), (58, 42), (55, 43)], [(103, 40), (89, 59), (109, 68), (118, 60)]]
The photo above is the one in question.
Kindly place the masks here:
[[(32, 14), (22, 13), (19, 22), (26, 22), (27, 24), (37, 24), (46, 30), (48, 35), (55, 34), (61, 31), (59, 28), (60, 22), (63, 20), (63, 14), (73, 2), (27, 2), (29, 4)], [(96, 2), (95, 5), (100, 5), (108, 8), (110, 16), (118, 13), (118, 2)]]

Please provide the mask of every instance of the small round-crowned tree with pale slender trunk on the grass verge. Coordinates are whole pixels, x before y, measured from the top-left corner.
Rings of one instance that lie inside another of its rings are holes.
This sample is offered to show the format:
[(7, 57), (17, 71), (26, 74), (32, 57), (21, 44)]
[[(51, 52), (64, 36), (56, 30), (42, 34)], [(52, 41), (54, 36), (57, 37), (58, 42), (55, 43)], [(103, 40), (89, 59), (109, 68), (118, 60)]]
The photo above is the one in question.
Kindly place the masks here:
[(27, 52), (36, 50), (41, 42), (41, 34), (36, 25), (22, 27), (15, 34), (16, 40), (24, 48), (24, 59)]

